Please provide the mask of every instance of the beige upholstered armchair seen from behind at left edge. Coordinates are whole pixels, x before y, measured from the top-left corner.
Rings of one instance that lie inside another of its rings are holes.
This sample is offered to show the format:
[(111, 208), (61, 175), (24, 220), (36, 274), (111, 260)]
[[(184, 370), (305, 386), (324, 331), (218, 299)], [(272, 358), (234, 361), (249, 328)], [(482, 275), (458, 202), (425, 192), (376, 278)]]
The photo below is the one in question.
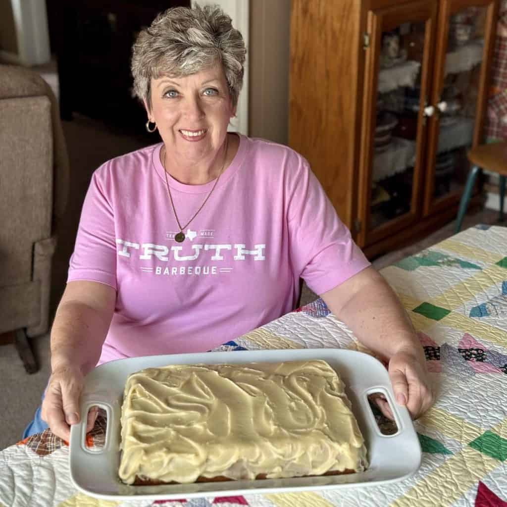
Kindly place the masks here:
[(38, 367), (27, 337), (49, 329), (51, 259), (67, 190), (54, 94), (37, 73), (0, 65), (0, 335), (14, 332), (28, 373)]

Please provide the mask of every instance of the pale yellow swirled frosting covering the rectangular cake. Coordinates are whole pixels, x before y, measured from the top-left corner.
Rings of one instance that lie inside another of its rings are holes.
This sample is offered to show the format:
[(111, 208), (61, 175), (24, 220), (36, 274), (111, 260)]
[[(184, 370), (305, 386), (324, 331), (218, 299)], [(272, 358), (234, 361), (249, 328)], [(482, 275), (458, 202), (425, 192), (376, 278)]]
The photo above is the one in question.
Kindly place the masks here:
[(148, 368), (127, 381), (120, 478), (192, 483), (363, 470), (343, 383), (321, 360)]

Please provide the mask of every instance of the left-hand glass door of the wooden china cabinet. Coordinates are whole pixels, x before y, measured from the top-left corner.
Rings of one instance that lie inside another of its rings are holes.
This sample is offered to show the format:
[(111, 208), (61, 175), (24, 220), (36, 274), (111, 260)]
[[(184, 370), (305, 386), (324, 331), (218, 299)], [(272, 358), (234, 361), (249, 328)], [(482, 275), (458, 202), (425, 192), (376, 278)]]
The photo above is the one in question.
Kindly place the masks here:
[(369, 13), (358, 240), (371, 244), (415, 222), (423, 184), (425, 108), (437, 6), (413, 2)]

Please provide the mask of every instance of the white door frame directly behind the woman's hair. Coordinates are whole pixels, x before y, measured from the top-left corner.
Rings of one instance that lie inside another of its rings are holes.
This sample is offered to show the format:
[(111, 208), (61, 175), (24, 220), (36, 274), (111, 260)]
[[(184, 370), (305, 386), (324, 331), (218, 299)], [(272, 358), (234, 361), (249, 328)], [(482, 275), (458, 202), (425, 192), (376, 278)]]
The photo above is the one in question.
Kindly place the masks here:
[(226, 14), (231, 16), (234, 28), (237, 28), (243, 35), (246, 46), (243, 88), (239, 94), (236, 117), (231, 119), (229, 131), (248, 135), (248, 22), (250, 17), (250, 0), (192, 0), (192, 6), (195, 4), (219, 5)]

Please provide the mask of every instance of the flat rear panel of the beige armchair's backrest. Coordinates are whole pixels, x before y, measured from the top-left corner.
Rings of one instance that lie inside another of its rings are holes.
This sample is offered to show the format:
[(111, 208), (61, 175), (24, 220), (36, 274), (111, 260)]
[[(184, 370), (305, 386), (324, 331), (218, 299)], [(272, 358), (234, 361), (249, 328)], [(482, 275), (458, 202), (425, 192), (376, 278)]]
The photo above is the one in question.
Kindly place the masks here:
[(51, 236), (49, 99), (0, 97), (0, 132), (0, 286), (6, 286), (31, 280), (33, 244)]

